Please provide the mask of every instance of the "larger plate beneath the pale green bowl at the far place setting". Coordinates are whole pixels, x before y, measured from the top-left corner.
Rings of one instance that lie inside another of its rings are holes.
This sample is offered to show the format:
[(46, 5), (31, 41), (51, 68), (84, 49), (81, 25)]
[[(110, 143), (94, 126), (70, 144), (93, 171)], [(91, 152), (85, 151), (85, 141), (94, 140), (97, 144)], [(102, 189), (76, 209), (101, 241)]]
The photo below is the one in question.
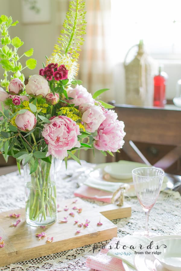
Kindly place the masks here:
[[(94, 169), (89, 172), (89, 177), (91, 177), (93, 179), (105, 180), (105, 181), (108, 181), (108, 182), (129, 183), (130, 189), (126, 192), (126, 196), (135, 197), (136, 192), (135, 192), (132, 177), (130, 179), (119, 179), (118, 180), (118, 179), (112, 178), (109, 173), (106, 173), (104, 171), (104, 168), (105, 168), (106, 165), (109, 166), (111, 164), (127, 164), (127, 163), (133, 163), (134, 166), (136, 166), (136, 167), (140, 167), (140, 165), (145, 167), (145, 164), (130, 162), (130, 161), (124, 161), (124, 160), (120, 160), (119, 162), (116, 162), (116, 163), (103, 163), (103, 164), (98, 164), (96, 167), (94, 167)], [(136, 168), (136, 167), (134, 167), (134, 168)], [(81, 182), (82, 182), (82, 176), (81, 176)], [(168, 179), (167, 179), (166, 176), (164, 176), (164, 181), (163, 181), (163, 184), (162, 184), (162, 187), (161, 187), (161, 191), (163, 191), (167, 187), (167, 182), (168, 182)]]

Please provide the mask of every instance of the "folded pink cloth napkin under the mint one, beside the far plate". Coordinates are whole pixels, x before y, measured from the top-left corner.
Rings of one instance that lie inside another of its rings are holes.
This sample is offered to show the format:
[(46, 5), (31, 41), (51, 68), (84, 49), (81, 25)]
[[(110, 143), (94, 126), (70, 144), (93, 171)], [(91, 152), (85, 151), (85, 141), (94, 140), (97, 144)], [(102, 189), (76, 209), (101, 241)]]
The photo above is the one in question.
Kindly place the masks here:
[(97, 201), (111, 203), (113, 193), (101, 191), (99, 189), (92, 188), (87, 185), (81, 185), (78, 189), (75, 190), (74, 195), (75, 197), (90, 198)]

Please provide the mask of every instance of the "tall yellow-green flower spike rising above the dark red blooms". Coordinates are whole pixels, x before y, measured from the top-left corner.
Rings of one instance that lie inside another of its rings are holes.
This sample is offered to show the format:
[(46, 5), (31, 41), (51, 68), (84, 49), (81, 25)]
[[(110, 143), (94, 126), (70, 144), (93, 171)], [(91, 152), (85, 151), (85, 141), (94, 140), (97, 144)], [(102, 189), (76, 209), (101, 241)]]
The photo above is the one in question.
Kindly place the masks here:
[(66, 19), (63, 23), (64, 29), (61, 30), (61, 34), (58, 38), (60, 45), (54, 46), (54, 52), (60, 54), (71, 54), (72, 58), (78, 59), (81, 51), (80, 45), (84, 43), (84, 38), (81, 36), (85, 34), (85, 1), (76, 0), (71, 1), (69, 4)]

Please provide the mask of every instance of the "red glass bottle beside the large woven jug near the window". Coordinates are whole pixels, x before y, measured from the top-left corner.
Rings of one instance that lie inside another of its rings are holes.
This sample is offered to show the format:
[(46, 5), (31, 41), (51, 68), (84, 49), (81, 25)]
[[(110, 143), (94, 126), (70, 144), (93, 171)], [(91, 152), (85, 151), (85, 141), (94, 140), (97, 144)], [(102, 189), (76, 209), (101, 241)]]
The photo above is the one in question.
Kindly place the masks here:
[(166, 77), (161, 75), (161, 67), (159, 74), (154, 76), (154, 106), (164, 107), (166, 104), (165, 98)]

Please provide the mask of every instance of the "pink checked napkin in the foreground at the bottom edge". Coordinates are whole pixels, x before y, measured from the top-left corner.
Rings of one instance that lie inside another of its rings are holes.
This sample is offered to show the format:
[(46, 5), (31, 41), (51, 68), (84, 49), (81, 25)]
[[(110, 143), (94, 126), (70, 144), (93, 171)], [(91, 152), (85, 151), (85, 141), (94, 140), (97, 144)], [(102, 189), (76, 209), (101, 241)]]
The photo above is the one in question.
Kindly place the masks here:
[[(109, 245), (112, 245), (113, 242), (116, 243), (118, 240), (119, 238), (113, 238)], [(125, 271), (122, 265), (122, 260), (107, 256), (106, 254), (108, 251), (108, 248), (104, 248), (101, 249), (99, 253), (87, 257), (86, 266), (99, 271)]]

